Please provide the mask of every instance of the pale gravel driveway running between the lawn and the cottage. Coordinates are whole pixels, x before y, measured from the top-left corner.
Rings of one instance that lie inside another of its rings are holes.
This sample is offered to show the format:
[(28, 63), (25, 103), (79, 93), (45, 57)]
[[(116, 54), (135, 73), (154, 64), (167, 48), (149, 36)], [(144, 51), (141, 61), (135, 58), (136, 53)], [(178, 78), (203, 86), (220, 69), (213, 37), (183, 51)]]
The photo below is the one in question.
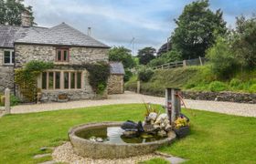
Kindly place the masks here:
[[(102, 105), (112, 104), (134, 104), (151, 102), (154, 104), (165, 104), (164, 97), (151, 97), (133, 92), (125, 92), (121, 95), (110, 95), (108, 99), (102, 100), (80, 100), (70, 101), (65, 103), (48, 103), (48, 104), (35, 104), (35, 105), (19, 105), (13, 107), (11, 113), (31, 113), (59, 109), (70, 108), (86, 108)], [(233, 102), (220, 102), (220, 101), (206, 101), (206, 100), (189, 100), (185, 99), (187, 108), (194, 108), (199, 110), (207, 110), (231, 115), (238, 115), (244, 117), (256, 117), (255, 104), (241, 104)]]

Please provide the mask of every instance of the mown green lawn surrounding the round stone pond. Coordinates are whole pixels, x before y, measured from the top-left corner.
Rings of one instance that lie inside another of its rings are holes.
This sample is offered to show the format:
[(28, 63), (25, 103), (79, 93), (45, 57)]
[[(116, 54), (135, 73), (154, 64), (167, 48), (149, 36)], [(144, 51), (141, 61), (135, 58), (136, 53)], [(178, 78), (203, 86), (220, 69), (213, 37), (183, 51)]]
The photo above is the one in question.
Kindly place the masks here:
[[(190, 159), (187, 163), (256, 163), (256, 118), (197, 110), (193, 117), (183, 112), (191, 118), (191, 134), (161, 151)], [(144, 105), (8, 115), (0, 118), (0, 163), (37, 163), (33, 156), (42, 153), (41, 147), (68, 140), (69, 128), (81, 123), (143, 118)]]

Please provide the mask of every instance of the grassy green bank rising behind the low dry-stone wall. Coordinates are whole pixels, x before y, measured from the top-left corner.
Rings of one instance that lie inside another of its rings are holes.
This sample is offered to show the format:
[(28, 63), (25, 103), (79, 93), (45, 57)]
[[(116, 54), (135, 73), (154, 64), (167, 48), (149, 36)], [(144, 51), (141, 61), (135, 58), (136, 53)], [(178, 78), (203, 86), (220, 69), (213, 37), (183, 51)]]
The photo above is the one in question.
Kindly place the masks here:
[[(209, 66), (178, 67), (155, 70), (148, 82), (141, 83), (144, 94), (163, 96), (165, 87), (179, 87), (191, 91), (233, 91), (256, 93), (256, 70), (238, 72), (231, 79), (218, 79)], [(127, 90), (136, 90), (137, 77), (125, 84)]]

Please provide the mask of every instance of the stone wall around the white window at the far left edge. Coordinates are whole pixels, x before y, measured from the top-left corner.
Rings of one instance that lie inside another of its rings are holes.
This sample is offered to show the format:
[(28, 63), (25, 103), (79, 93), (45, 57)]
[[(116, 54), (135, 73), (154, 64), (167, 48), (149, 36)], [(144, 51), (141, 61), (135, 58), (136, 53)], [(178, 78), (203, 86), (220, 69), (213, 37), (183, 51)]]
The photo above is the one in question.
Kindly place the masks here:
[(0, 94), (6, 87), (14, 91), (14, 67), (4, 65), (4, 49), (0, 48)]

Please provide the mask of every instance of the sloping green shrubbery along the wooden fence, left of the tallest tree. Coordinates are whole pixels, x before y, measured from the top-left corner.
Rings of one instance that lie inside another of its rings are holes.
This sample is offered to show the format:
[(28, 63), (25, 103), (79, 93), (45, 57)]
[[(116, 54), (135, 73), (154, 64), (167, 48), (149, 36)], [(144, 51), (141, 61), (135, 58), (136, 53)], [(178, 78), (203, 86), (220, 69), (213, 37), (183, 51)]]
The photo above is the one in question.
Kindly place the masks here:
[(181, 54), (178, 51), (176, 51), (176, 49), (173, 49), (151, 60), (148, 63), (148, 65), (150, 67), (157, 67), (165, 63), (170, 63), (170, 62), (175, 62), (180, 60), (182, 60)]

